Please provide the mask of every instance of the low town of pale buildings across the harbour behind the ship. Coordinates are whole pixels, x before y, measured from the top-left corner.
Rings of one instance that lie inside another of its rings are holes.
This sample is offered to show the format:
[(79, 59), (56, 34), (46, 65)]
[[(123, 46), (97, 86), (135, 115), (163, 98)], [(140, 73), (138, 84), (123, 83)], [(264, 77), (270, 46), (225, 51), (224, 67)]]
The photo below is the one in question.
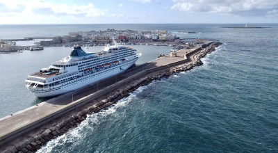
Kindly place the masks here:
[[(34, 45), (16, 46), (17, 41), (36, 40)], [(46, 37), (46, 38), (22, 38), (1, 40), (0, 44), (10, 47), (0, 47), (0, 53), (3, 51), (21, 51), (31, 50), (32, 47), (74, 47), (79, 45), (83, 47), (104, 46), (112, 44), (113, 40), (126, 45), (154, 45), (154, 46), (172, 46), (193, 48), (198, 44), (202, 44), (203, 40), (191, 39), (183, 40), (174, 33), (167, 30), (156, 31), (133, 31), (133, 30), (115, 30), (107, 29), (106, 31), (79, 31), (70, 32), (68, 35)], [(13, 49), (10, 49), (13, 47)], [(5, 53), (6, 53), (5, 52)]]

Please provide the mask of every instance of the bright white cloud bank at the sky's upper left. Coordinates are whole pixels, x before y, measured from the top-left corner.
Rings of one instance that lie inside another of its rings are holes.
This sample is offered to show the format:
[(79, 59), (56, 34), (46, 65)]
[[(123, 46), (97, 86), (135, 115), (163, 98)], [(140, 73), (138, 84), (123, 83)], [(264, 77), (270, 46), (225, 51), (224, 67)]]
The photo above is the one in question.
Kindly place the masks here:
[[(23, 14), (22, 14), (23, 13)], [(72, 5), (54, 4), (44, 1), (18, 1), (0, 0), (0, 16), (1, 15), (47, 15), (47, 16), (74, 16), (74, 17), (106, 17), (111, 16), (108, 10), (96, 8), (92, 3), (88, 5)]]

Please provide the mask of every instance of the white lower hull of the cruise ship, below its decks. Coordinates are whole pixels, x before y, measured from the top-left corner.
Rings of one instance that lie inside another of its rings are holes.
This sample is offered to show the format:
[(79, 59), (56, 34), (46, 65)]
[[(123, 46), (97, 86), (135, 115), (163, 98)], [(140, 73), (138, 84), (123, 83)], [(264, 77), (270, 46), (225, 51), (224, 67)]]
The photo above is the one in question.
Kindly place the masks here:
[(131, 67), (136, 61), (137, 59), (134, 61), (122, 63), (120, 65), (115, 65), (113, 67), (106, 68), (105, 70), (107, 70), (107, 72), (102, 72), (103, 70), (101, 70), (99, 74), (97, 73), (89, 74), (84, 77), (80, 77), (75, 81), (73, 80), (70, 81), (69, 83), (61, 84), (60, 86), (54, 86), (54, 88), (49, 88), (48, 90), (45, 89), (40, 90), (28, 86), (26, 86), (26, 88), (28, 88), (28, 90), (30, 90), (36, 97), (52, 97), (56, 95), (62, 95), (66, 92), (70, 92), (72, 90), (76, 90), (84, 86), (88, 86), (102, 79), (106, 79), (108, 77), (112, 77), (116, 74), (124, 72), (125, 70), (129, 69), (129, 67)]

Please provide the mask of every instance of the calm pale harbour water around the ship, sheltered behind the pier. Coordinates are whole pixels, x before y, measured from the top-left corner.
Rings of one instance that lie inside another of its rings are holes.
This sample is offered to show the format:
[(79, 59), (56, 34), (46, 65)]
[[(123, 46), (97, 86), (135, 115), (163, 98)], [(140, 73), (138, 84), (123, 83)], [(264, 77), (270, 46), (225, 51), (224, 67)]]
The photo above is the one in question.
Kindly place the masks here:
[[(171, 47), (130, 45), (142, 53), (136, 65), (147, 63), (157, 58), (160, 53), (167, 54)], [(88, 51), (101, 51), (103, 46), (88, 47)], [(24, 80), (29, 74), (49, 67), (54, 61), (68, 56), (70, 47), (47, 47), (42, 51), (23, 51), (11, 54), (0, 54), (0, 65), (3, 73), (0, 74), (0, 118), (33, 106), (45, 99), (39, 99), (29, 92)]]

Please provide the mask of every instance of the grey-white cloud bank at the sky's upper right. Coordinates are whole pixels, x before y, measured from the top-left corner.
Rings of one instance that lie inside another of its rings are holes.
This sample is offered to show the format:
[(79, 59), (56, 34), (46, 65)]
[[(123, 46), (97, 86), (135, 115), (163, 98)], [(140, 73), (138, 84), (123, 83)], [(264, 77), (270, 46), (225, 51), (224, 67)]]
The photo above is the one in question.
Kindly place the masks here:
[(172, 9), (182, 12), (208, 12), (229, 15), (266, 15), (278, 9), (277, 0), (172, 0)]

